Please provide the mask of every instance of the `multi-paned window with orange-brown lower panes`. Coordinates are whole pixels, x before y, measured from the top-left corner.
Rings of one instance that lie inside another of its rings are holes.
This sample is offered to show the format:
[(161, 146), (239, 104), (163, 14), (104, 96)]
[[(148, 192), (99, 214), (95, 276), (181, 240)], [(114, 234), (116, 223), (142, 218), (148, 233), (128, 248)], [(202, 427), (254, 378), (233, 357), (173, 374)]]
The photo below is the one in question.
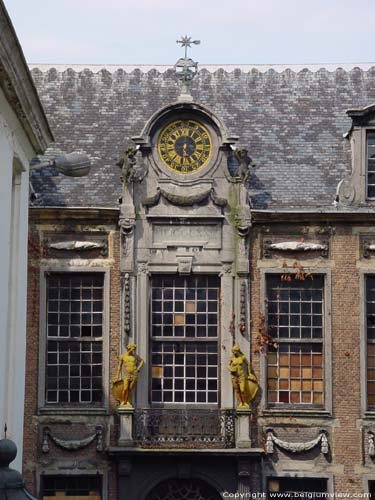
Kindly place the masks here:
[(270, 406), (324, 404), (324, 278), (284, 282), (267, 277), (267, 355)]

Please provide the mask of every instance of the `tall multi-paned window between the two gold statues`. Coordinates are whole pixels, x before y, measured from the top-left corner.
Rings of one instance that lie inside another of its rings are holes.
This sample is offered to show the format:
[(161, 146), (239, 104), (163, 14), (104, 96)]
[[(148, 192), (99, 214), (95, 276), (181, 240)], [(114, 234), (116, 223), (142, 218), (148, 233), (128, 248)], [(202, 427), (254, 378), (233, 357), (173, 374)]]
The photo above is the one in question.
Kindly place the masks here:
[(153, 403), (218, 402), (219, 278), (154, 276)]

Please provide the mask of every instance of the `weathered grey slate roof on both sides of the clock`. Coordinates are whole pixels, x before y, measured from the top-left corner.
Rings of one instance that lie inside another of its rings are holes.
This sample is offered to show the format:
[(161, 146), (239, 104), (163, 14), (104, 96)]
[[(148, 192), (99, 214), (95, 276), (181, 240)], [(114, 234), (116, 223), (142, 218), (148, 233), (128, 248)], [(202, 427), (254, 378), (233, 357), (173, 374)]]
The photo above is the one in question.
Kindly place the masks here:
[[(31, 69), (56, 140), (47, 153), (84, 150), (94, 162), (81, 179), (34, 172), (37, 204), (116, 207), (116, 158), (155, 111), (176, 101), (173, 69)], [(200, 67), (192, 94), (248, 148), (257, 165), (250, 186), (255, 208), (331, 207), (338, 182), (351, 169), (345, 111), (375, 103), (375, 63)]]

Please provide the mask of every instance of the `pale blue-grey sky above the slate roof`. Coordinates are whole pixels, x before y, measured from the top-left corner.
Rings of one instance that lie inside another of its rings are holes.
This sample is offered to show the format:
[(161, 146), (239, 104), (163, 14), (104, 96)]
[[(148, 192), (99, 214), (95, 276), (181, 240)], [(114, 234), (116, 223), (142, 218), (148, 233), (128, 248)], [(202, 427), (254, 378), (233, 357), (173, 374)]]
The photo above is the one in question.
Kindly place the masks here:
[(375, 0), (5, 0), (29, 63), (375, 61)]

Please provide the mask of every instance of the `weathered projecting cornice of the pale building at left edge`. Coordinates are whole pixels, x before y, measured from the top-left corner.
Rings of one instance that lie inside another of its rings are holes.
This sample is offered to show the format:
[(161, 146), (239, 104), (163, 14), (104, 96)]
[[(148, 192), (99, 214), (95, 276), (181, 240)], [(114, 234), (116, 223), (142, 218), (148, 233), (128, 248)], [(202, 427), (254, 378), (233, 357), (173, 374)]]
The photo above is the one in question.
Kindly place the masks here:
[(0, 85), (36, 153), (53, 135), (4, 3), (0, 0)]

